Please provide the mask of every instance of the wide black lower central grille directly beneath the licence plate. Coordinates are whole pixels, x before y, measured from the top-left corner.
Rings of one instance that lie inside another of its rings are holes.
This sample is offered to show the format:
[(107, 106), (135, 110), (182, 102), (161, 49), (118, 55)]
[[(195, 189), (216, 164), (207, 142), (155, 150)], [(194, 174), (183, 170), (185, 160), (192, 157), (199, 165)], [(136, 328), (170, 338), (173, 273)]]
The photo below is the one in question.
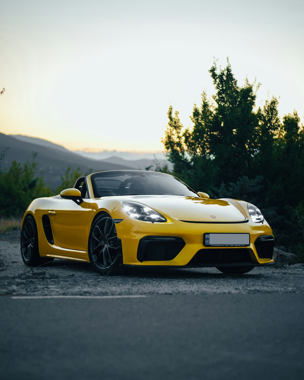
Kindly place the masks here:
[(204, 264), (252, 263), (246, 248), (205, 248), (195, 253), (187, 266)]

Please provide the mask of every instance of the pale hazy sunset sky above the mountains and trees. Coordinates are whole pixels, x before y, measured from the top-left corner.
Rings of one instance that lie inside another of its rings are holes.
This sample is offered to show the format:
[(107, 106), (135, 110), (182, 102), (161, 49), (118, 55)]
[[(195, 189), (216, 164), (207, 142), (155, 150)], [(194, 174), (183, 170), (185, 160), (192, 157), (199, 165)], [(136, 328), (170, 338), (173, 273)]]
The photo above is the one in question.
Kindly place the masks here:
[(170, 103), (190, 125), (214, 58), (257, 105), (304, 116), (304, 2), (0, 0), (0, 131), (68, 149), (163, 150)]

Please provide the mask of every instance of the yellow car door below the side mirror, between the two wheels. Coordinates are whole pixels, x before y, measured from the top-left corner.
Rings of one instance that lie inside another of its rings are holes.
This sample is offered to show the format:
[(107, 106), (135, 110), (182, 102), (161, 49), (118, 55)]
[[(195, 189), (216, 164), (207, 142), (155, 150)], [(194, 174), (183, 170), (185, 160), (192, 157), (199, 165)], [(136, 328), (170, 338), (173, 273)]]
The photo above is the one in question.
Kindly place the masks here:
[(77, 204), (72, 199), (52, 198), (47, 211), (55, 245), (65, 249), (87, 251), (85, 235), (87, 206), (88, 199)]

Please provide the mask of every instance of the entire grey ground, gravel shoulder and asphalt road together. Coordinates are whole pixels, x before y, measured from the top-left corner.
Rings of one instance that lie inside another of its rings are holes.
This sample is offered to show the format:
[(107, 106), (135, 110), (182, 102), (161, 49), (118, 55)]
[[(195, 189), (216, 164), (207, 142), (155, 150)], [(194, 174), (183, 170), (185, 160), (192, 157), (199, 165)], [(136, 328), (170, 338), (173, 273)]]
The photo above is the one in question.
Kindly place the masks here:
[(0, 240), (0, 380), (303, 378), (304, 268), (28, 268)]

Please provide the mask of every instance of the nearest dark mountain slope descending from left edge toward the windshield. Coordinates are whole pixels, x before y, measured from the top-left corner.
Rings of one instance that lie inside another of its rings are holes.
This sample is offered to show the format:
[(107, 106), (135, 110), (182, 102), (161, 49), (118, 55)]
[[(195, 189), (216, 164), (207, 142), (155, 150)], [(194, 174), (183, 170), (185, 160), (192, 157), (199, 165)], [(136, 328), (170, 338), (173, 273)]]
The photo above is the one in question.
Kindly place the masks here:
[(6, 152), (4, 159), (0, 161), (2, 171), (5, 168), (8, 169), (13, 160), (24, 165), (27, 160), (32, 160), (32, 155), (36, 152), (37, 174), (42, 171), (44, 182), (46, 184), (50, 183), (51, 188), (54, 190), (61, 184), (61, 175), (65, 174), (68, 166), (73, 169), (79, 167), (82, 173), (87, 171), (133, 169), (133, 166), (90, 160), (52, 142), (28, 136), (18, 135), (16, 137), (0, 133), (0, 151), (4, 147), (9, 147), (9, 150)]

